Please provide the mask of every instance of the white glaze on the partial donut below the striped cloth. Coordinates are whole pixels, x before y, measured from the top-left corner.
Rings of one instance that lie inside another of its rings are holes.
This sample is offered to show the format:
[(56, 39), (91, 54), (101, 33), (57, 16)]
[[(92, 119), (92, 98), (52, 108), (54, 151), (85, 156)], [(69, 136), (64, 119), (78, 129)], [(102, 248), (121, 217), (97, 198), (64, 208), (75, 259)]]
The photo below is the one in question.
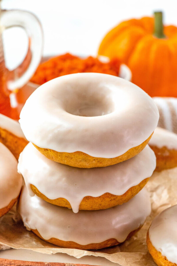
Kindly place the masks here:
[(177, 149), (177, 134), (157, 127), (149, 141), (149, 145), (158, 148), (167, 147), (169, 150)]

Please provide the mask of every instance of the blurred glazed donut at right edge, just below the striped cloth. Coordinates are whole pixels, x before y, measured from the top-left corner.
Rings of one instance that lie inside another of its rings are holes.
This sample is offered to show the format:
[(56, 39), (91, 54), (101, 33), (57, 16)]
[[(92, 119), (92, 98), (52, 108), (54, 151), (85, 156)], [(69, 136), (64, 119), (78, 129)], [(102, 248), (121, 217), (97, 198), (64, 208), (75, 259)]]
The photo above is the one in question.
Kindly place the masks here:
[(177, 134), (157, 127), (149, 145), (157, 158), (156, 171), (177, 166)]

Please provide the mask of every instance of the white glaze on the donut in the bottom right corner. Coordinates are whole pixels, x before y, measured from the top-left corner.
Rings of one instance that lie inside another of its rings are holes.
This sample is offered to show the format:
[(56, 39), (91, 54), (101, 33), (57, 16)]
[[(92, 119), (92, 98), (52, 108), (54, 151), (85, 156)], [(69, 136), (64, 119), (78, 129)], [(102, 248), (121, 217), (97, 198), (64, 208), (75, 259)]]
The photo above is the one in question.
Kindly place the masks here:
[(155, 217), (149, 228), (149, 238), (162, 256), (177, 264), (177, 205)]

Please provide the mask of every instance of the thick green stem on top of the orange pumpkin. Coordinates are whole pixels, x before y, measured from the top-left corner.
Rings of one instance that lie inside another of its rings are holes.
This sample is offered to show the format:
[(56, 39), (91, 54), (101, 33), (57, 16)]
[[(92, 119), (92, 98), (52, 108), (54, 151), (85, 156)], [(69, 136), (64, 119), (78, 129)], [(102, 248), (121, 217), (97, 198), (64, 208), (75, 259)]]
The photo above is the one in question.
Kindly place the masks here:
[(163, 33), (163, 13), (154, 12), (154, 36), (157, 38), (165, 38)]

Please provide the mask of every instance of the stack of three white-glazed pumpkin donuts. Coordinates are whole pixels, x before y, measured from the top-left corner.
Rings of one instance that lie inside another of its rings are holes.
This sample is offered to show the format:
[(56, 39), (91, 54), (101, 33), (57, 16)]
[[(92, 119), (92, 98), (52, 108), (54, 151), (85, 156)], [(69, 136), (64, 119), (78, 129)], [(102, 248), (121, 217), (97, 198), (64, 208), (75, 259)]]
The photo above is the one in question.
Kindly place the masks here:
[(143, 90), (107, 74), (65, 75), (37, 88), (19, 121), (30, 142), (18, 164), (24, 226), (66, 248), (131, 237), (151, 211), (143, 187), (156, 167), (147, 144), (158, 118)]

